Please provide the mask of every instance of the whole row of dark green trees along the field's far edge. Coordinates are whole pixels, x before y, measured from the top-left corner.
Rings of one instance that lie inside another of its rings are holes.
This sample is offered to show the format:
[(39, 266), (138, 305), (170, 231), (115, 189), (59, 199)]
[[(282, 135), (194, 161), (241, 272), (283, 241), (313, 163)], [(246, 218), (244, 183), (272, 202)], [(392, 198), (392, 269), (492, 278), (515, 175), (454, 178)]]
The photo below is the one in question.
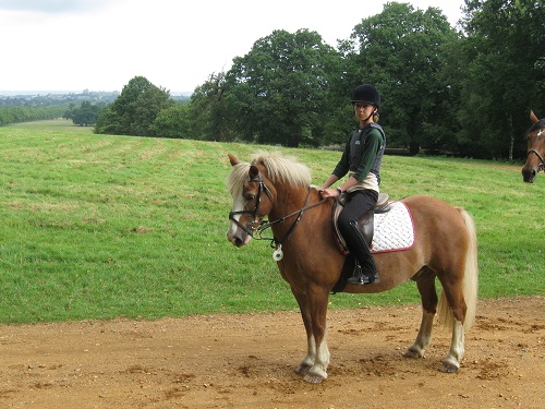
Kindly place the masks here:
[(132, 79), (95, 132), (340, 145), (356, 125), (350, 94), (371, 83), (388, 147), (521, 158), (530, 110), (545, 117), (545, 4), (465, 0), (463, 13), (452, 27), (438, 8), (388, 2), (336, 48), (308, 29), (274, 31), (189, 101)]

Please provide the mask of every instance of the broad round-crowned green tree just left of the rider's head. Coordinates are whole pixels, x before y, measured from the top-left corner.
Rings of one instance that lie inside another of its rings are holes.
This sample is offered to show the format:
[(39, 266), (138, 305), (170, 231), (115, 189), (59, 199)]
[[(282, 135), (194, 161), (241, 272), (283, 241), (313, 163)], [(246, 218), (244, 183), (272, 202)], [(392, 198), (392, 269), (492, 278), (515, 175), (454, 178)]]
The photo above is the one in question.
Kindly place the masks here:
[(227, 73), (230, 125), (245, 141), (319, 145), (329, 65), (339, 56), (316, 32), (275, 31), (233, 59)]

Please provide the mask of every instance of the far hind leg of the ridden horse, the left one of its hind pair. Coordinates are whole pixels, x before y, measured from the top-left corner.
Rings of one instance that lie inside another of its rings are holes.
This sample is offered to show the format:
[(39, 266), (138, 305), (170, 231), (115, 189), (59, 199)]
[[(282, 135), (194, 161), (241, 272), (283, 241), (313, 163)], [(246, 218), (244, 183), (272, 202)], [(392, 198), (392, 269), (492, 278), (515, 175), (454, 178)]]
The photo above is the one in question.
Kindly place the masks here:
[(422, 299), (422, 322), (414, 344), (409, 347), (403, 357), (422, 358), (432, 340), (434, 316), (437, 311), (437, 292), (435, 275), (427, 270), (417, 281), (416, 287)]

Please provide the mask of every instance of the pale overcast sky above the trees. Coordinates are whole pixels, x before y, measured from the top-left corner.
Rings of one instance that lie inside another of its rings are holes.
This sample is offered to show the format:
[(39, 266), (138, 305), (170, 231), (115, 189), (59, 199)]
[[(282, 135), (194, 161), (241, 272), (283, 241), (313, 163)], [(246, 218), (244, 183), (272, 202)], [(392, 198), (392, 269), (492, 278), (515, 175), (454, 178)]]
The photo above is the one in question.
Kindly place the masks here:
[[(437, 7), (451, 25), (463, 0)], [(336, 47), (386, 1), (0, 0), (1, 91), (121, 91), (143, 75), (192, 92), (275, 29), (315, 31)]]

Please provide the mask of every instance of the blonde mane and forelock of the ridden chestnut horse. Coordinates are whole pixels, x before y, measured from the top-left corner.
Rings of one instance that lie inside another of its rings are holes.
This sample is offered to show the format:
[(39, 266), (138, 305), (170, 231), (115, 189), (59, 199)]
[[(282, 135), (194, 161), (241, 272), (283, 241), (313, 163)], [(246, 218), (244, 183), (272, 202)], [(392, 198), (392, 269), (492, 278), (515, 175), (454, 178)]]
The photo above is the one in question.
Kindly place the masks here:
[[(253, 165), (262, 165), (267, 169), (267, 177), (272, 181), (281, 181), (294, 187), (308, 187), (311, 184), (311, 170), (294, 157), (282, 156), (280, 153), (257, 152)], [(228, 179), (228, 189), (231, 195), (242, 193), (242, 187), (250, 180), (251, 164), (240, 163), (233, 167)]]

